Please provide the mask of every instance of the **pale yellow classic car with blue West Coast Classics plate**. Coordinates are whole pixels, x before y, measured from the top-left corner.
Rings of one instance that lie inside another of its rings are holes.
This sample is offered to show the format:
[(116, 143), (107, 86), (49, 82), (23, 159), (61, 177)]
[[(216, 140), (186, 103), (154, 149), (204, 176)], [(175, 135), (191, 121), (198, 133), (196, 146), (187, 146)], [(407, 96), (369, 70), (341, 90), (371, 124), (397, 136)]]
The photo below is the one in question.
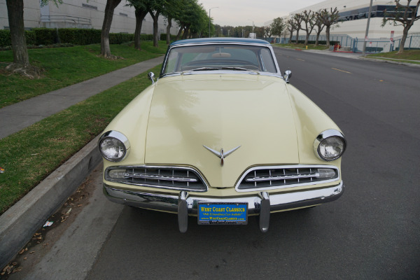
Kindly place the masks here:
[(158, 80), (99, 139), (112, 202), (202, 225), (313, 207), (344, 192), (346, 139), (281, 74), (271, 45), (200, 38), (169, 45)]

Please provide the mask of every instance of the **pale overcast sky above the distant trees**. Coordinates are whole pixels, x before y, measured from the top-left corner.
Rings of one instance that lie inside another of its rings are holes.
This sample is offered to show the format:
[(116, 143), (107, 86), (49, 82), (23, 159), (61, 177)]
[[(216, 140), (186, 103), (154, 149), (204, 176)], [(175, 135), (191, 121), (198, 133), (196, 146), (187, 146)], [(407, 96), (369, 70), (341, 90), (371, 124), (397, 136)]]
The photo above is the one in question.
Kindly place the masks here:
[(216, 25), (261, 27), (264, 22), (279, 18), (294, 10), (320, 3), (323, 0), (198, 0)]

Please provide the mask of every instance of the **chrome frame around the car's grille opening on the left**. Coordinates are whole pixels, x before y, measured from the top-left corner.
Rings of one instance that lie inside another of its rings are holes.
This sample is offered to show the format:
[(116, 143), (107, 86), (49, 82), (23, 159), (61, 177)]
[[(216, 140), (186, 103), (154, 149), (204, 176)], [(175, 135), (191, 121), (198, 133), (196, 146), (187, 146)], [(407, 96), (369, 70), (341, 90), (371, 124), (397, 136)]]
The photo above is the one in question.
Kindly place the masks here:
[[(190, 171), (190, 172), (193, 172), (195, 175), (197, 175), (200, 178), (200, 180), (202, 181), (205, 189), (204, 190), (194, 190), (192, 188), (171, 188), (169, 186), (156, 186), (156, 185), (151, 185), (151, 184), (146, 184), (146, 183), (122, 182), (122, 181), (119, 181), (118, 179), (109, 178), (109, 176), (108, 176), (109, 170), (111, 170), (111, 169), (130, 169), (130, 168), (153, 168), (153, 169), (162, 168), (162, 169), (178, 169), (178, 170)], [(129, 166), (118, 165), (118, 166), (112, 166), (112, 167), (106, 168), (104, 170), (104, 179), (106, 181), (110, 181), (110, 182), (114, 182), (114, 183), (122, 183), (122, 184), (139, 186), (139, 187), (147, 187), (147, 188), (159, 188), (159, 189), (165, 189), (165, 190), (186, 190), (186, 191), (189, 191), (189, 192), (197, 192), (197, 193), (203, 193), (203, 192), (207, 192), (207, 190), (209, 190), (209, 184), (204, 179), (204, 176), (202, 176), (202, 174), (200, 172), (198, 172), (198, 170), (196, 170), (192, 167), (179, 167), (179, 166), (169, 166), (169, 165), (129, 165)]]

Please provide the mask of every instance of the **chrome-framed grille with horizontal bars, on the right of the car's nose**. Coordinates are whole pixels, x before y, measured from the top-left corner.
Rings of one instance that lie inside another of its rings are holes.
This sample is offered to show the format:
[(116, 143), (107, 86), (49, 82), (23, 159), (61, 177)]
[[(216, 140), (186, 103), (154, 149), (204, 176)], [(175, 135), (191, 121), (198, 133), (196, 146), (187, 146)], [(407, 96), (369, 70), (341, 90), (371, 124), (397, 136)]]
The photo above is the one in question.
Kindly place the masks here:
[(334, 166), (253, 167), (248, 169), (237, 184), (237, 190), (290, 188), (337, 181), (339, 170)]

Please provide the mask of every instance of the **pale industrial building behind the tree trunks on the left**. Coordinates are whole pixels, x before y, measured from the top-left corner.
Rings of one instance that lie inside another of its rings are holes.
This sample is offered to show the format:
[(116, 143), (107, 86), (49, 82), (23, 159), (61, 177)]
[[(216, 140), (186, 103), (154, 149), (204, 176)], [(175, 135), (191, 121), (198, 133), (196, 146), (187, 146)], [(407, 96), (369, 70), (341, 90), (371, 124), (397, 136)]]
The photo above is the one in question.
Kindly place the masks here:
[[(136, 15), (134, 8), (122, 1), (114, 10), (111, 33), (134, 33)], [(63, 0), (62, 4), (55, 6), (50, 1), (41, 7), (40, 1), (24, 0), (25, 28), (51, 27), (51, 28), (93, 28), (102, 29), (106, 0)], [(0, 29), (8, 29), (8, 14), (6, 0), (0, 0)], [(166, 33), (167, 19), (160, 15), (159, 33)], [(178, 32), (178, 25), (172, 22), (171, 34)], [(153, 19), (146, 15), (142, 34), (153, 34)]]

